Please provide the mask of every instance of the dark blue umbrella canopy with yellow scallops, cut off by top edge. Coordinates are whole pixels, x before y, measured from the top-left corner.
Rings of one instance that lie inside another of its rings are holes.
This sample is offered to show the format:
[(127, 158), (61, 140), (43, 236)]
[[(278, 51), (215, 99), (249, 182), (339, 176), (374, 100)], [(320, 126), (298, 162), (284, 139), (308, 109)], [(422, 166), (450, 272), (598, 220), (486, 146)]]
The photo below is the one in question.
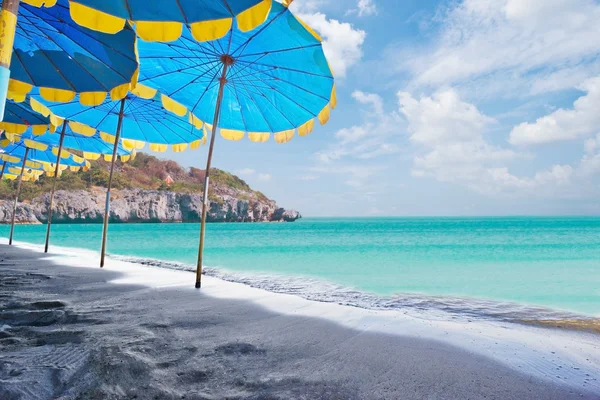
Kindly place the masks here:
[[(56, 0), (25, 0), (46, 7)], [(69, 1), (73, 19), (82, 26), (100, 32), (116, 33), (126, 21), (136, 25), (146, 41), (176, 40), (183, 25), (199, 41), (224, 36), (237, 20), (244, 31), (264, 22), (272, 0), (76, 0)], [(289, 0), (291, 3), (291, 0)]]

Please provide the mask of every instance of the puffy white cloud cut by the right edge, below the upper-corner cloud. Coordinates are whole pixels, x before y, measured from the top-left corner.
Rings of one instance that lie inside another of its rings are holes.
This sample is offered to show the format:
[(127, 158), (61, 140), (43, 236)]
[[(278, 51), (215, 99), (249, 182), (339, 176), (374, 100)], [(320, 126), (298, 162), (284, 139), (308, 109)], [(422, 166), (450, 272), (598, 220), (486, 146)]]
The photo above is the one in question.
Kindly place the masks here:
[(535, 123), (522, 123), (510, 133), (514, 145), (534, 145), (589, 136), (600, 127), (600, 76), (587, 80), (581, 90), (587, 92), (572, 109), (559, 109)]

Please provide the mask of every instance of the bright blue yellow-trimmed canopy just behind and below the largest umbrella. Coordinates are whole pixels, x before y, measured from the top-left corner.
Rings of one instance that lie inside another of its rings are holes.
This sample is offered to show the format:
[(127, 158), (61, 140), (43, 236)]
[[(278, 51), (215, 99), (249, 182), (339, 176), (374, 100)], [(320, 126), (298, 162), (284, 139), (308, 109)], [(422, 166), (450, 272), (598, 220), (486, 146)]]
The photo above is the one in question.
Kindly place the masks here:
[(75, 133), (85, 136), (97, 133), (109, 143), (115, 142), (123, 104), (120, 137), (125, 139), (124, 146), (128, 149), (143, 148), (145, 143), (149, 143), (153, 151), (166, 151), (168, 145), (173, 145), (175, 151), (183, 151), (190, 143), (192, 148), (198, 148), (204, 138), (197, 118), (185, 108), (182, 110), (173, 100), (144, 85), (138, 85), (122, 101), (106, 99), (93, 107), (84, 107), (77, 99), (67, 103), (50, 103), (35, 94), (31, 95), (29, 102), (33, 110), (55, 118), (56, 122), (68, 120)]

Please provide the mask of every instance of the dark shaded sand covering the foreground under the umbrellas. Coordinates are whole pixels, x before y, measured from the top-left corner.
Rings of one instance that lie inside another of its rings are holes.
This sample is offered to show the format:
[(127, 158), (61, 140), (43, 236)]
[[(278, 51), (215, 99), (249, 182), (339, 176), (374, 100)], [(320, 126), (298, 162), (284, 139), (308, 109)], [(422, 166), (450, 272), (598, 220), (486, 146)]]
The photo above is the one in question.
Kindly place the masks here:
[(0, 399), (597, 399), (441, 342), (0, 246)]

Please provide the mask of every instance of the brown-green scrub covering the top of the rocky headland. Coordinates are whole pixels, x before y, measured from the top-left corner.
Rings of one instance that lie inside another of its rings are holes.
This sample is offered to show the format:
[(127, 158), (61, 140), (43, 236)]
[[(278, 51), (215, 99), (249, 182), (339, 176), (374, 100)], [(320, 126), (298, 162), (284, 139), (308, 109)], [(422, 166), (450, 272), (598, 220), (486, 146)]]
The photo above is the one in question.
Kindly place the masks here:
[[(63, 171), (57, 181), (57, 190), (86, 190), (98, 186), (106, 187), (109, 170), (110, 163), (100, 159), (91, 161), (91, 167), (88, 171)], [(173, 179), (173, 183), (170, 185), (166, 182), (167, 177)], [(268, 200), (264, 194), (253, 191), (242, 179), (219, 169), (211, 170), (210, 183), (209, 198), (211, 201), (218, 202), (220, 197), (216, 193), (224, 190), (245, 192), (240, 193), (239, 197), (247, 199), (255, 197), (259, 200)], [(16, 180), (2, 180), (0, 182), (0, 200), (13, 198), (16, 187)], [(202, 193), (204, 170), (193, 167), (183, 168), (175, 161), (160, 160), (149, 154), (138, 153), (134, 160), (127, 163), (117, 161), (113, 176), (113, 188)], [(23, 182), (20, 199), (28, 201), (50, 192), (51, 189), (52, 178), (42, 175), (37, 182)]]

